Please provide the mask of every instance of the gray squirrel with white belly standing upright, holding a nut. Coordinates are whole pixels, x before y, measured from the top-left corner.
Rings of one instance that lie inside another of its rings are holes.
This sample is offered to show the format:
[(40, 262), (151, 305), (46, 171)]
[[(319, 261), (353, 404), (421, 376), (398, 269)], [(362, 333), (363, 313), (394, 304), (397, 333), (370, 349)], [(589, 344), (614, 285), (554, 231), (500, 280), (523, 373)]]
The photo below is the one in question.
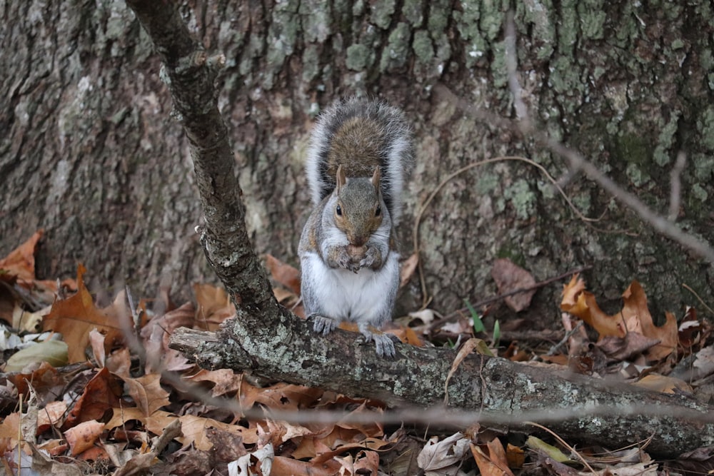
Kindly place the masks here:
[(313, 211), (298, 246), (302, 297), (313, 330), (326, 335), (356, 323), (380, 357), (393, 357), (387, 335), (399, 286), (394, 228), (402, 189), (414, 166), (411, 128), (381, 101), (347, 98), (319, 116), (306, 173)]

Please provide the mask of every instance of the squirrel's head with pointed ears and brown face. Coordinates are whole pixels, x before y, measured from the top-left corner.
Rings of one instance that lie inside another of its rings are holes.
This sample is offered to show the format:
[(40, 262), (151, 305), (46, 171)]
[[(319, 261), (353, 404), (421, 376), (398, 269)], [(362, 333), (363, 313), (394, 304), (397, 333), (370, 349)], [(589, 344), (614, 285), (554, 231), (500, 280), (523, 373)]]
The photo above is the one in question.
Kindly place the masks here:
[(337, 168), (333, 216), (351, 245), (363, 246), (382, 225), (385, 216), (389, 219), (379, 188), (380, 179), (379, 167), (375, 168), (372, 178), (348, 178), (342, 166)]

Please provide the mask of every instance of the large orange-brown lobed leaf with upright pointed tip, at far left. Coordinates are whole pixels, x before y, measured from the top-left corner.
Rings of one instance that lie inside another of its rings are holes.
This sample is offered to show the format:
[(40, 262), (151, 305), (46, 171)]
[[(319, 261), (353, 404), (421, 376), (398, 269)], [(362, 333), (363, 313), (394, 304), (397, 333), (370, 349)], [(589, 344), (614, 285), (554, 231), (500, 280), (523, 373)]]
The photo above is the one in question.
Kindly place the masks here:
[(52, 310), (44, 317), (45, 330), (61, 333), (64, 342), (69, 346), (69, 362), (78, 363), (86, 360), (84, 354), (89, 345), (89, 332), (96, 328), (106, 335), (106, 347), (121, 339), (123, 330), (131, 330), (131, 313), (124, 305), (124, 294), (108, 308), (99, 310), (94, 307), (89, 290), (84, 286), (83, 265), (77, 268), (77, 293), (64, 300), (55, 301)]

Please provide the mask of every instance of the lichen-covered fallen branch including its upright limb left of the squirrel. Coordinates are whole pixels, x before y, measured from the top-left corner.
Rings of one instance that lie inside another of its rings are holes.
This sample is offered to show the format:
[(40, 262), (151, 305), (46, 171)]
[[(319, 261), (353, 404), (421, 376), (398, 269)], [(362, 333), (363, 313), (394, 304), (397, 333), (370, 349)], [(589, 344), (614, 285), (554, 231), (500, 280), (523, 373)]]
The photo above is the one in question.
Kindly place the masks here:
[[(456, 361), (453, 350), (398, 345), (396, 359), (385, 360), (376, 358), (371, 345), (362, 345), (361, 339), (354, 340), (349, 333), (338, 330), (331, 338), (311, 333), (310, 323), (277, 306), (255, 257), (249, 248), (246, 251), (245, 209), (231, 183), (233, 174), (226, 173), (230, 149), (213, 101), (211, 59), (188, 38), (188, 31), (166, 4), (146, 0), (129, 4), (166, 63), (176, 108), (191, 141), (206, 212), (202, 243), (238, 307), (238, 318), (217, 334), (178, 331), (173, 337), (174, 348), (206, 368), (251, 370), (272, 379), (378, 397), (391, 405), (433, 406), (442, 402), (446, 393), (449, 405), (478, 410), (481, 422), (503, 421), (495, 415), (567, 407), (578, 416), (555, 420), (551, 427), (569, 440), (622, 446), (651, 437), (650, 451), (665, 456), (714, 444), (714, 423), (690, 414), (678, 416), (682, 408), (703, 415), (712, 409), (682, 397), (576, 375), (558, 375), (554, 382), (552, 371), (483, 355), (467, 356), (451, 372)], [(251, 275), (257, 277), (251, 279)], [(660, 411), (648, 418), (642, 413), (615, 412), (608, 415), (607, 422), (600, 415), (588, 414), (602, 405), (621, 408), (635, 404)], [(523, 429), (523, 424), (513, 427)], [(673, 445), (673, 441), (677, 443)]]

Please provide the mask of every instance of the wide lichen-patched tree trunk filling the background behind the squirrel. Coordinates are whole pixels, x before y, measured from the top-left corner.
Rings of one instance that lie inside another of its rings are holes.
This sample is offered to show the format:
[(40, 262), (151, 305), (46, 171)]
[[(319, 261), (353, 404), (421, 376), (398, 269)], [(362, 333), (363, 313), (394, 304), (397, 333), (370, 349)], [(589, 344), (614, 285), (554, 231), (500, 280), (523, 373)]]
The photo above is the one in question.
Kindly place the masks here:
[[(45, 228), (38, 274), (72, 275), (151, 295), (163, 278), (188, 294), (206, 280), (193, 232), (201, 222), (188, 145), (170, 121), (159, 61), (122, 2), (1, 3), (0, 253)], [(181, 13), (209, 53), (228, 61), (219, 105), (228, 118), (249, 231), (258, 252), (297, 263), (308, 213), (302, 173), (311, 119), (333, 98), (383, 96), (413, 120), (418, 166), (401, 233), (418, 203), (456, 168), (523, 154), (554, 176), (565, 163), (511, 129), (478, 122), (433, 94), (443, 83), (473, 105), (513, 116), (503, 2), (288, 0), (201, 2)], [(714, 55), (706, 1), (516, 2), (520, 79), (533, 120), (667, 213), (670, 169), (688, 154), (678, 223), (714, 241)], [(421, 228), (433, 306), (495, 292), (510, 257), (536, 279), (595, 263), (586, 277), (612, 305), (638, 278), (655, 315), (714, 300), (714, 271), (576, 176), (575, 218), (535, 168), (489, 165), (448, 183)], [(607, 230), (607, 232), (602, 230)], [(418, 297), (416, 281), (407, 297)], [(531, 310), (550, 325), (558, 286)], [(410, 302), (405, 305), (412, 308)], [(608, 303), (604, 303), (606, 310)], [(611, 307), (611, 306), (610, 306)]]

